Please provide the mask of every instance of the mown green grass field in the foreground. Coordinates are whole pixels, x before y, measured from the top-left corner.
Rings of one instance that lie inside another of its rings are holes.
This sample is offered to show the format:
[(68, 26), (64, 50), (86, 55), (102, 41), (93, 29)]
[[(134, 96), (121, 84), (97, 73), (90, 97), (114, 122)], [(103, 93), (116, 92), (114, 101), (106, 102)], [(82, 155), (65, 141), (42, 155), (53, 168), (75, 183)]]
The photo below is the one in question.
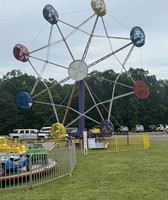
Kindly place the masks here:
[(2, 190), (14, 200), (168, 200), (168, 142), (147, 150), (77, 156), (72, 176), (28, 188)]

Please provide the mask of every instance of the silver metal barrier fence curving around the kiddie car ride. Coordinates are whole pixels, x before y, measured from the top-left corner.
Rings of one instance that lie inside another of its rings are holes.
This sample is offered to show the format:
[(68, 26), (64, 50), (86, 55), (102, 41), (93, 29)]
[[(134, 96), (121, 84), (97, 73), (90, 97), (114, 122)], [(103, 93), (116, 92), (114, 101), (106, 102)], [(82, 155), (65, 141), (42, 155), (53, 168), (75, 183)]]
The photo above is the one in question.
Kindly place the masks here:
[(0, 189), (28, 187), (31, 190), (35, 185), (70, 175), (75, 165), (75, 144), (54, 144), (50, 150), (38, 149), (21, 157), (1, 153)]

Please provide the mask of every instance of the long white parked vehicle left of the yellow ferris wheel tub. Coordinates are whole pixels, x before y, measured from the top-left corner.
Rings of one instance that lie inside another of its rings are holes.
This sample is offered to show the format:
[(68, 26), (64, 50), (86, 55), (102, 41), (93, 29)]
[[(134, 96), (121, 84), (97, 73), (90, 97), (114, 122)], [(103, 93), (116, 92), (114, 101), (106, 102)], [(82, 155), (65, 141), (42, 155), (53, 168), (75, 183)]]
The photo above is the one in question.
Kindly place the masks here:
[(47, 140), (50, 138), (50, 134), (47, 132), (41, 132), (38, 129), (14, 129), (12, 133), (9, 133), (9, 139), (40, 139)]

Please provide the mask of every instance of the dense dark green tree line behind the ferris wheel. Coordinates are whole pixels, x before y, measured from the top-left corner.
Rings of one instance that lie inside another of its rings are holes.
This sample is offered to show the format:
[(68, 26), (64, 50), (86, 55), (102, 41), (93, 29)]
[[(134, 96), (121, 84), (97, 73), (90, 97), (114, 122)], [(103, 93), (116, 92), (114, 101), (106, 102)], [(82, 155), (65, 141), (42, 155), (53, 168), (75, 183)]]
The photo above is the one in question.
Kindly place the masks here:
[[(111, 89), (118, 73), (113, 70), (103, 72), (93, 71), (85, 79), (89, 86), (89, 91), (92, 92), (94, 99), (98, 102), (105, 101), (111, 98)], [(130, 76), (134, 80), (143, 80), (149, 87), (149, 97), (141, 100), (135, 95), (129, 95), (117, 100), (114, 100), (110, 121), (114, 127), (119, 125), (127, 125), (130, 129), (136, 124), (143, 124), (147, 127), (151, 124), (168, 124), (168, 80), (157, 80), (155, 75), (149, 75), (148, 71), (142, 68), (130, 68), (127, 72), (119, 76), (115, 89), (115, 96), (127, 93), (130, 89), (124, 85), (133, 85)], [(50, 101), (49, 95), (45, 92), (33, 99), (33, 105), (30, 109), (21, 109), (17, 106), (15, 98), (20, 91), (31, 92), (36, 81), (36, 77), (22, 73), (20, 70), (12, 70), (0, 79), (0, 134), (8, 134), (15, 128), (37, 128), (43, 126), (51, 126), (56, 122), (53, 108), (47, 104)], [(56, 85), (51, 90), (54, 102), (57, 105), (57, 112), (60, 121), (64, 121), (66, 106), (69, 102), (69, 97), (74, 84), (58, 84), (57, 80), (43, 80), (48, 87)], [(45, 90), (44, 84), (39, 80), (38, 87), (35, 92)], [(76, 90), (78, 88), (76, 87)], [(85, 109), (93, 106), (93, 99), (89, 91), (85, 88)], [(36, 103), (43, 102), (43, 103)], [(78, 93), (74, 93), (71, 107), (78, 109)], [(102, 115), (107, 118), (109, 105), (103, 104), (99, 107)], [(78, 113), (69, 112), (65, 121), (65, 125), (70, 123), (72, 119), (77, 117)], [(101, 121), (96, 109), (92, 109), (88, 113), (90, 118), (96, 121)], [(95, 123), (88, 118), (85, 119), (87, 129), (92, 128)], [(78, 122), (74, 122), (72, 126), (77, 127)]]

